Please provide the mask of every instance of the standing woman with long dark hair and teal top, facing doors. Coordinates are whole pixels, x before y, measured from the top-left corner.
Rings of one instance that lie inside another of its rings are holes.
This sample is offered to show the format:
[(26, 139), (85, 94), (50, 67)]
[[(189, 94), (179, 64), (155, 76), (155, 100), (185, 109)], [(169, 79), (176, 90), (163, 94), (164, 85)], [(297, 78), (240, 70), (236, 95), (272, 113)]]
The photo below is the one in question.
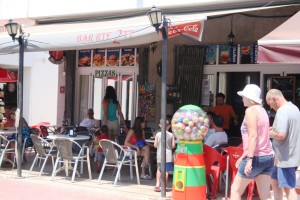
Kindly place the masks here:
[(106, 87), (106, 94), (102, 101), (103, 106), (103, 125), (107, 125), (109, 139), (115, 141), (115, 138), (120, 134), (120, 124), (117, 117), (117, 113), (120, 117), (120, 122), (123, 125), (123, 129), (127, 132), (127, 127), (124, 121), (124, 116), (121, 110), (119, 101), (117, 100), (117, 95), (115, 88), (112, 86)]

